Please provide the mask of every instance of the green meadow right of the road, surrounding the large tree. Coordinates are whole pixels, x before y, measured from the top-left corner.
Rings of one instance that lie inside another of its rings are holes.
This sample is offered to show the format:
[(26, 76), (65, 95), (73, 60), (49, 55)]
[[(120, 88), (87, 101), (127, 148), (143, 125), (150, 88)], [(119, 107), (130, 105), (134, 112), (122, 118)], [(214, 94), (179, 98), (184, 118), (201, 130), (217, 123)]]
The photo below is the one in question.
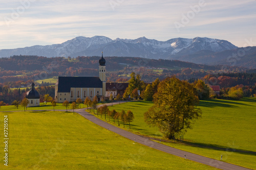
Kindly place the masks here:
[[(131, 129), (134, 133), (162, 138), (157, 128), (144, 123), (143, 114), (152, 105), (151, 102), (140, 101), (109, 108), (132, 110), (135, 119)], [(223, 155), (225, 162), (256, 169), (256, 99), (201, 101), (199, 107), (203, 112), (202, 118), (185, 133), (185, 142), (166, 144), (218, 160)]]

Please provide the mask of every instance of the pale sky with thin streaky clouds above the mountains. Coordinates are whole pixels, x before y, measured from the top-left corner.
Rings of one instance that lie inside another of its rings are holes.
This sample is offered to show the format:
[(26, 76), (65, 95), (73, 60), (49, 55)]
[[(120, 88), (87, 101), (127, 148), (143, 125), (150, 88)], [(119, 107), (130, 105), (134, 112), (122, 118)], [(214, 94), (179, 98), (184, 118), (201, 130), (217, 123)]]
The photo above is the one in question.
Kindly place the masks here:
[(0, 0), (0, 49), (77, 36), (208, 37), (256, 46), (255, 0)]

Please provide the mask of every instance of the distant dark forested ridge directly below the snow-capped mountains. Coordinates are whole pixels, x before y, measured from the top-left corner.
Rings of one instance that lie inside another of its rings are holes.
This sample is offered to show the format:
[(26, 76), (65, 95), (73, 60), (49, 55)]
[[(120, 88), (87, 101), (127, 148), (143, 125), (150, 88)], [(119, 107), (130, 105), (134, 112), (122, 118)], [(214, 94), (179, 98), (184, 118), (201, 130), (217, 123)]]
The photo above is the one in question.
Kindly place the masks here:
[[(2, 71), (8, 70), (45, 70), (48, 67), (54, 68), (54, 71), (64, 71), (70, 67), (77, 69), (93, 68), (98, 69), (98, 60), (100, 57), (77, 57), (77, 58), (64, 58), (64, 57), (38, 57), (38, 56), (12, 56), (10, 58), (0, 58), (0, 69)], [(155, 60), (146, 58), (135, 57), (105, 57), (106, 69), (109, 71), (121, 70), (124, 67), (151, 67), (151, 68), (165, 68), (165, 69), (181, 69), (193, 68), (204, 70), (221, 70), (223, 66), (209, 66), (203, 64), (195, 64), (190, 62), (183, 62), (178, 60)], [(225, 66), (225, 69), (232, 70), (245, 70), (242, 67)]]

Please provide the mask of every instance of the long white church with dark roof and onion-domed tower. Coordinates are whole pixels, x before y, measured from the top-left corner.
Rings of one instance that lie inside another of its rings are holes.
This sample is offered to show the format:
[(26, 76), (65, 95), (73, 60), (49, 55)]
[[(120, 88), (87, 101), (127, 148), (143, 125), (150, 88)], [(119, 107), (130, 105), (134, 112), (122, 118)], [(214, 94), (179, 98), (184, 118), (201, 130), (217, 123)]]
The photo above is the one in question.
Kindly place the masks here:
[(106, 93), (106, 66), (103, 53), (99, 59), (99, 77), (58, 77), (55, 84), (55, 102), (74, 102), (78, 98), (85, 100), (87, 96), (93, 100), (97, 96), (100, 101), (101, 96)]

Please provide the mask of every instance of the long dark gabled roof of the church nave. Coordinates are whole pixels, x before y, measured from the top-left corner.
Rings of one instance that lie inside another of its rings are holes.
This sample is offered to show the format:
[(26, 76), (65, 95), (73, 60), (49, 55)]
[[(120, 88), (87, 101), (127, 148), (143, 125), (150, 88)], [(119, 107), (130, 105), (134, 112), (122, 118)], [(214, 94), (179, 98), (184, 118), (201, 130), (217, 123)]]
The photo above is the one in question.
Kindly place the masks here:
[(59, 77), (58, 92), (70, 92), (70, 88), (102, 88), (99, 77)]

